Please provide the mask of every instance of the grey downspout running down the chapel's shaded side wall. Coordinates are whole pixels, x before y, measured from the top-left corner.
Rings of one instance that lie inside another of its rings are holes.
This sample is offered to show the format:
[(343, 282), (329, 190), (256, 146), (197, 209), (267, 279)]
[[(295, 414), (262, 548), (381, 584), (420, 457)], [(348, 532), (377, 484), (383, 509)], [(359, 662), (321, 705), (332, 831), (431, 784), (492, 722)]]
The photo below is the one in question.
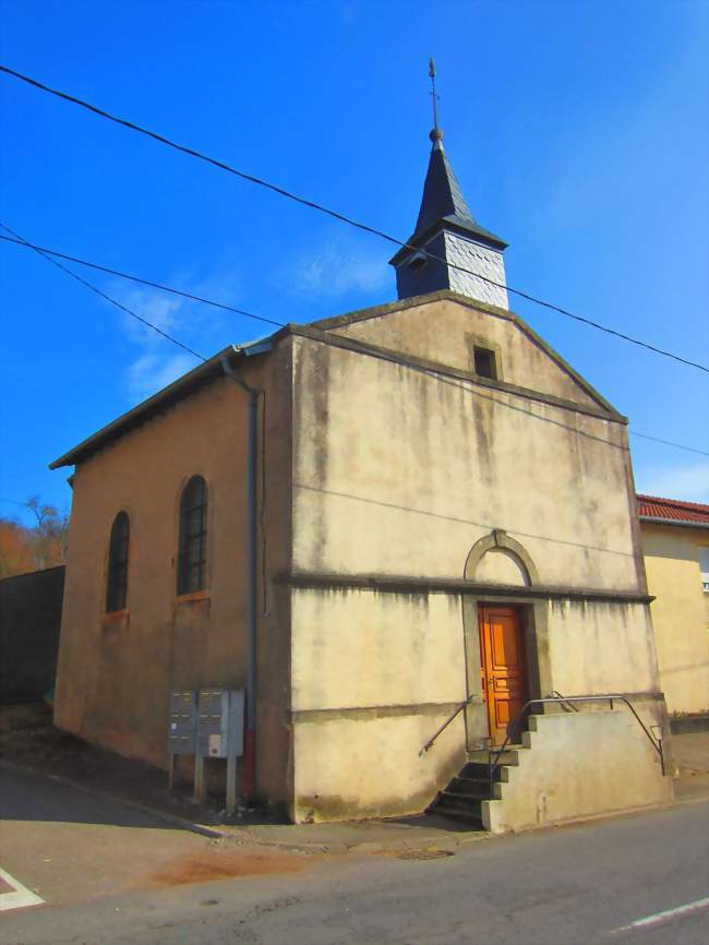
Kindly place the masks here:
[[(236, 352), (238, 348), (233, 349)], [(256, 600), (257, 587), (257, 534), (256, 534), (256, 448), (259, 441), (259, 397), (261, 391), (251, 387), (233, 370), (226, 355), (221, 356), (224, 373), (249, 397), (249, 442), (247, 474), (247, 725), (244, 732), (243, 793), (252, 798), (256, 783)]]

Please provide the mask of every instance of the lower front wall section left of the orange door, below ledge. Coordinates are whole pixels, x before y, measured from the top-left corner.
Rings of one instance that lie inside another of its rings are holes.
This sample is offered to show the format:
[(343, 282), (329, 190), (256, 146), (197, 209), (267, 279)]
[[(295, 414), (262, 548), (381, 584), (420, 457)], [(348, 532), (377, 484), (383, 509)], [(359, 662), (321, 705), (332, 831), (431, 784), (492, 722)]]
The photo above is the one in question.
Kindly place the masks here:
[(455, 597), (372, 590), (293, 593), (297, 820), (414, 813), (461, 759), (465, 698)]

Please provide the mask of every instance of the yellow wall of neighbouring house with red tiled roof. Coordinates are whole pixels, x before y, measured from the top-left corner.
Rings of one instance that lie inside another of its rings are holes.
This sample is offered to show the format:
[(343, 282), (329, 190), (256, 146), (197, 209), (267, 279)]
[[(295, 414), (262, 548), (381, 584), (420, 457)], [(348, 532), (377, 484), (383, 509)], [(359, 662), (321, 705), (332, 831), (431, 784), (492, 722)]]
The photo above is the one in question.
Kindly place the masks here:
[(699, 549), (709, 531), (641, 523), (660, 682), (671, 713), (709, 710), (709, 593)]

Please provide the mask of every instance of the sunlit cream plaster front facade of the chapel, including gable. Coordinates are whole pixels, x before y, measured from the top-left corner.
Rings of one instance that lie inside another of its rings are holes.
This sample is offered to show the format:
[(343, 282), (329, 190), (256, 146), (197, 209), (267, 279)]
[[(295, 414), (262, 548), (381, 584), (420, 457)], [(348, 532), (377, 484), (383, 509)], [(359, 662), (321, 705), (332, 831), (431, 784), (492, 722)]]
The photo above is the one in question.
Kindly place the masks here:
[[(450, 298), (399, 308), (331, 331), (460, 371), (474, 338), (495, 347), (505, 384), (295, 339), (296, 817), (412, 812), (445, 783), (466, 747), (462, 717), (419, 750), (476, 692), (480, 650), (469, 596), (426, 582), (461, 582), (493, 529), (524, 547), (536, 584), (606, 595), (512, 601), (532, 626), (532, 695), (659, 689), (623, 422), (509, 318)], [(489, 562), (479, 581), (520, 583), (516, 565)], [(388, 588), (347, 586), (366, 575)], [(483, 718), (468, 714), (469, 746)]]

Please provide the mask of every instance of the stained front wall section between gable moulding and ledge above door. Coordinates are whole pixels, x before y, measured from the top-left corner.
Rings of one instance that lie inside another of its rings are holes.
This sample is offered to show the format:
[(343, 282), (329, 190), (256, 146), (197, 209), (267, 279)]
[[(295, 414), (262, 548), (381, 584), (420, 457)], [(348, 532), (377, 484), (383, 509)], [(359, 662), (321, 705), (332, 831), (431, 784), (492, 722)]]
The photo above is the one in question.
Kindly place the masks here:
[(297, 339), (293, 566), (461, 577), (506, 529), (540, 581), (636, 589), (625, 428)]

